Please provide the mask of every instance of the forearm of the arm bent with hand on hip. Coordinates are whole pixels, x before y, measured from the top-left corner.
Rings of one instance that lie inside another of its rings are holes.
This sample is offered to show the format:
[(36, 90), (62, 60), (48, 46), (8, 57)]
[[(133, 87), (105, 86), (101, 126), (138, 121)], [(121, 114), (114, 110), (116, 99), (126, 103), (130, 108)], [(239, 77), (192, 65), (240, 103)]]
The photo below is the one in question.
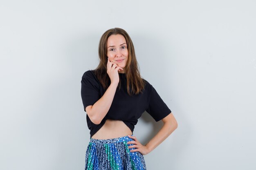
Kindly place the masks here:
[(159, 132), (145, 145), (149, 152), (161, 144), (177, 128), (177, 123), (165, 122)]

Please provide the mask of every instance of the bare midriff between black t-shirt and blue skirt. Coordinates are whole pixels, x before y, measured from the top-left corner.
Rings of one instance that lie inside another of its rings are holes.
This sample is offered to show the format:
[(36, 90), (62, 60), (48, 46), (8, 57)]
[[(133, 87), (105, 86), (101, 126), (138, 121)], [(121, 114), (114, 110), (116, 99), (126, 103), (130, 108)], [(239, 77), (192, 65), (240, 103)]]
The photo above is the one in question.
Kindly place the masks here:
[(93, 139), (112, 139), (132, 135), (130, 128), (121, 120), (106, 119), (105, 124), (92, 136)]

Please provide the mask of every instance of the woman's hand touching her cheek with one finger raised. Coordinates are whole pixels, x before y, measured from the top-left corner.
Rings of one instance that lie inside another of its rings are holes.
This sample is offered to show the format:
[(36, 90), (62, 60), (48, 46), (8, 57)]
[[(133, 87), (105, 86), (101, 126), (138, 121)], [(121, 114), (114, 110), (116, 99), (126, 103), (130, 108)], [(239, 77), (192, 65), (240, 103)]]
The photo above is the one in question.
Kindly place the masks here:
[(108, 76), (110, 77), (111, 83), (117, 83), (119, 82), (119, 75), (118, 71), (119, 70), (124, 70), (123, 68), (119, 67), (115, 62), (110, 62), (108, 58), (108, 63), (107, 63), (107, 73)]

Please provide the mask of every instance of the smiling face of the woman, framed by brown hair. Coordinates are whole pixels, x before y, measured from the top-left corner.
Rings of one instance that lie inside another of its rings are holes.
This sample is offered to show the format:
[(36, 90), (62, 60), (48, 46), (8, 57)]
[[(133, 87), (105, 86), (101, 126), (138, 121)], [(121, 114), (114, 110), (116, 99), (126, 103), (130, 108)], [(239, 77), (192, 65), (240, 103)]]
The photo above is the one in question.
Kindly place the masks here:
[(107, 41), (107, 55), (110, 62), (116, 63), (124, 70), (119, 73), (125, 73), (125, 66), (128, 60), (128, 49), (123, 35), (110, 35)]

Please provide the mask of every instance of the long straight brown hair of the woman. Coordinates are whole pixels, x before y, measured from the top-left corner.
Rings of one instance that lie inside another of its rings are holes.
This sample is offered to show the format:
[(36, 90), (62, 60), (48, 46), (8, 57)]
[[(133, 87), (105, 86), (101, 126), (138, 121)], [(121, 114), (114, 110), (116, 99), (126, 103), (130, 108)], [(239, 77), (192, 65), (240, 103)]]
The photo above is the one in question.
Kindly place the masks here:
[[(93, 71), (96, 77), (99, 79), (99, 82), (102, 84), (103, 88), (107, 89), (110, 85), (111, 81), (107, 73), (107, 41), (110, 35), (121, 34), (124, 36), (128, 49), (128, 61), (126, 63), (126, 79), (127, 79), (127, 92), (128, 95), (139, 94), (144, 90), (146, 82), (143, 78), (141, 78), (138, 63), (136, 60), (135, 50), (132, 43), (132, 40), (128, 33), (121, 28), (109, 29), (101, 36), (99, 41), (99, 66), (95, 68)], [(120, 75), (119, 75), (120, 80)], [(121, 86), (121, 81), (118, 83), (119, 89)], [(130, 92), (131, 89), (131, 92)]]

